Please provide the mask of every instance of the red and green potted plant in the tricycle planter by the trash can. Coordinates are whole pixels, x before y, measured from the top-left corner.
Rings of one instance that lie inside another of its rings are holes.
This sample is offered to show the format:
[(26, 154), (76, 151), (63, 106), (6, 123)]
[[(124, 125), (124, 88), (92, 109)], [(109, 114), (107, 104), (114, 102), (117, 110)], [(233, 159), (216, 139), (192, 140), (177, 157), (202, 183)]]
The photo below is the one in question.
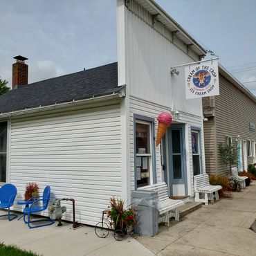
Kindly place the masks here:
[(125, 234), (133, 230), (136, 225), (136, 212), (133, 208), (125, 210), (122, 199), (111, 197), (108, 217), (111, 218), (114, 230), (122, 230)]

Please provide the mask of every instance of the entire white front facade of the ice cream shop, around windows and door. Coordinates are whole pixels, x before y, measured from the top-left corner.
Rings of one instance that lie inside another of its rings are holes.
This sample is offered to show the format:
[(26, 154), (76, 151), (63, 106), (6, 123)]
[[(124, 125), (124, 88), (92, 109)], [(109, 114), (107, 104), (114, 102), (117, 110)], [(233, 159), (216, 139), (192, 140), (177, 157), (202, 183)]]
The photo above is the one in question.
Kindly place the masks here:
[[(136, 3), (137, 2), (137, 3)], [(191, 51), (167, 26), (140, 6), (139, 1), (118, 1), (118, 77), (119, 85), (126, 84), (126, 114), (129, 115), (128, 148), (131, 175), (131, 191), (135, 189), (134, 177), (134, 115), (154, 118), (153, 131), (156, 137), (157, 116), (171, 108), (180, 113), (179, 120), (185, 127), (187, 150), (188, 193), (193, 195), (191, 127), (201, 128), (203, 142), (201, 99), (185, 99), (183, 86), (184, 69), (179, 75), (171, 75), (170, 68), (179, 64), (199, 60), (199, 55)], [(175, 30), (175, 29), (174, 29)], [(156, 181), (162, 182), (160, 147), (156, 147)], [(203, 172), (205, 172), (204, 147), (202, 145)], [(153, 163), (154, 164), (154, 163)], [(128, 185), (129, 187), (129, 185)]]

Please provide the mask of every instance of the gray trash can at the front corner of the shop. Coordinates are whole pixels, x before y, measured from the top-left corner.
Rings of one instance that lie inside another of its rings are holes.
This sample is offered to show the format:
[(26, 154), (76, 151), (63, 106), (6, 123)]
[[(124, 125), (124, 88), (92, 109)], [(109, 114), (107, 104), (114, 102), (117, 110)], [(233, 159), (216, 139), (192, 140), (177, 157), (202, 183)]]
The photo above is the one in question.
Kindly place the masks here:
[(147, 190), (131, 192), (131, 203), (137, 211), (138, 224), (134, 228), (137, 234), (154, 237), (158, 232), (157, 202), (157, 192)]

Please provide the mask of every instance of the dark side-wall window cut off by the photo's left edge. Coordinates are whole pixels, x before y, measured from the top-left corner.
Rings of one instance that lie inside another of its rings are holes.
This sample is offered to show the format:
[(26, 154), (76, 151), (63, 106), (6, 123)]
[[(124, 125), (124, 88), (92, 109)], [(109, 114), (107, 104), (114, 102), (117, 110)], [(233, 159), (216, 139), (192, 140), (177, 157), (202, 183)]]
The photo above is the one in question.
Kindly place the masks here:
[(0, 122), (0, 182), (6, 182), (7, 122)]

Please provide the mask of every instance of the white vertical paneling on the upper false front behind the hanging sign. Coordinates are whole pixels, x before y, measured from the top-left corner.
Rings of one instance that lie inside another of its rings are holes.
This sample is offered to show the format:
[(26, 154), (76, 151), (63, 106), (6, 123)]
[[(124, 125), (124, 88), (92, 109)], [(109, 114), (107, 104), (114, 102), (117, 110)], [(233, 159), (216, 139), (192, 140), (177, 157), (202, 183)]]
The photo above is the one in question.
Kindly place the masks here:
[(170, 74), (172, 66), (194, 62), (192, 57), (134, 13), (127, 11), (127, 19), (125, 51), (129, 67), (126, 82), (129, 93), (156, 104), (161, 102), (166, 107), (201, 116), (201, 99), (185, 99), (184, 68), (179, 68), (179, 75)]

